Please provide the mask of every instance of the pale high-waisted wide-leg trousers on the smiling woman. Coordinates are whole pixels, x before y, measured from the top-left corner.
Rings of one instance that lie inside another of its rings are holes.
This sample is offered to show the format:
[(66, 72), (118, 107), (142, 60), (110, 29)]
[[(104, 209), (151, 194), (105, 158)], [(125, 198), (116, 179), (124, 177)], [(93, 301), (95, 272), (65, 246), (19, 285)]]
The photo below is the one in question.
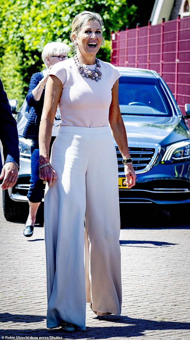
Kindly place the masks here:
[(46, 185), (44, 201), (47, 327), (64, 320), (85, 329), (87, 302), (99, 313), (121, 313), (118, 165), (109, 126), (61, 126), (51, 164), (57, 180)]

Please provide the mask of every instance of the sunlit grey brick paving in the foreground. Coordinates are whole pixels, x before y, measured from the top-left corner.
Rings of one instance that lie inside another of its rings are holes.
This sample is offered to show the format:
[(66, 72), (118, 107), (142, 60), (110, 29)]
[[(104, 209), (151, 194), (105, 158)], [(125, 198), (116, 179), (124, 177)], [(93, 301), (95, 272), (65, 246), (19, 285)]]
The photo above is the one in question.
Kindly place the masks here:
[(189, 340), (190, 226), (172, 225), (166, 212), (138, 215), (120, 236), (122, 316), (97, 317), (87, 306), (86, 331), (65, 335), (46, 328), (44, 229), (25, 238), (23, 224), (4, 219), (0, 198), (0, 339)]

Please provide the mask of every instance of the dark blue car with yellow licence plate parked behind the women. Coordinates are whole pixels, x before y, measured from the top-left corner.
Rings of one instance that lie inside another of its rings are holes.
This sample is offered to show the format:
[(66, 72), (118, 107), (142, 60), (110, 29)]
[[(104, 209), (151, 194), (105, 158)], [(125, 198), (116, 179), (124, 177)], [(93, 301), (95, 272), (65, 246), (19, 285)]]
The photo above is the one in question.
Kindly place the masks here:
[[(118, 158), (120, 206), (160, 207), (171, 216), (188, 218), (190, 207), (190, 134), (166, 83), (155, 71), (118, 67), (119, 104), (127, 131), (130, 155), (137, 174), (136, 185), (126, 189), (122, 156)], [(25, 222), (30, 180), (30, 144), (22, 138), (30, 107), (24, 101), (17, 113), (20, 140), (20, 171), (13, 188), (3, 191), (3, 209), (8, 221)], [(121, 210), (123, 210), (121, 209)], [(42, 214), (43, 215), (43, 214)]]

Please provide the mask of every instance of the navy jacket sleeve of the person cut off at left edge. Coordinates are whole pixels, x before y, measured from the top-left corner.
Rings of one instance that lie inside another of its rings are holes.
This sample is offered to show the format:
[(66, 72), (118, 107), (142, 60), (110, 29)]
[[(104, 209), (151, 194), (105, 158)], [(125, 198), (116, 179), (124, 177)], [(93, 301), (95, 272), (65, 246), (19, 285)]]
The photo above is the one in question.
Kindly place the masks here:
[[(6, 92), (0, 79), (0, 140), (3, 146), (4, 163), (14, 162), (19, 166), (19, 141), (17, 123), (12, 115)], [(2, 170), (2, 158), (0, 153), (0, 173)], [(0, 181), (0, 184), (3, 179)]]

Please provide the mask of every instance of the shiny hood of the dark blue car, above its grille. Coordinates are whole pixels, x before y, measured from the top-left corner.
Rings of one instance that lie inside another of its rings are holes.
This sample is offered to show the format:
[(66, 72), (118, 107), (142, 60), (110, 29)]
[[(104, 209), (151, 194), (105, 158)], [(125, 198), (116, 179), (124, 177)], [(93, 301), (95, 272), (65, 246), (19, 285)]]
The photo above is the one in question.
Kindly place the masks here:
[(188, 139), (189, 132), (183, 118), (122, 115), (129, 141), (159, 143), (164, 146)]

